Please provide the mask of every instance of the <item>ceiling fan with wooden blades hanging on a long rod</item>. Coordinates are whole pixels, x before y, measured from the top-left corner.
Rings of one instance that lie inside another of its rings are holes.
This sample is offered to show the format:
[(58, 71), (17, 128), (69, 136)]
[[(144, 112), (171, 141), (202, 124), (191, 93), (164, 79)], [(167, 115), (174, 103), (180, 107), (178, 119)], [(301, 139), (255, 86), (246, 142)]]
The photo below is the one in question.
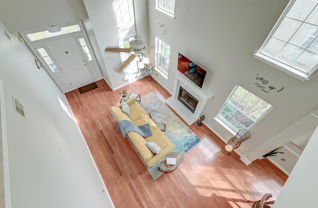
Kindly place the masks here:
[[(134, 20), (135, 20), (135, 31), (136, 31), (136, 39), (133, 39), (129, 41), (130, 48), (111, 48), (106, 47), (106, 51), (113, 51), (113, 52), (134, 52), (135, 54), (131, 54), (128, 59), (123, 63), (123, 65), (120, 67), (119, 71), (123, 70), (131, 61), (135, 59), (135, 57), (139, 57), (138, 61), (138, 68), (144, 68), (144, 63), (141, 60), (141, 56), (143, 55), (143, 52), (145, 51), (145, 45), (146, 42), (142, 39), (138, 39), (137, 35), (137, 22), (136, 22), (136, 15), (135, 15), (135, 2), (133, 0), (133, 9), (134, 9)], [(143, 65), (143, 66), (142, 66)]]

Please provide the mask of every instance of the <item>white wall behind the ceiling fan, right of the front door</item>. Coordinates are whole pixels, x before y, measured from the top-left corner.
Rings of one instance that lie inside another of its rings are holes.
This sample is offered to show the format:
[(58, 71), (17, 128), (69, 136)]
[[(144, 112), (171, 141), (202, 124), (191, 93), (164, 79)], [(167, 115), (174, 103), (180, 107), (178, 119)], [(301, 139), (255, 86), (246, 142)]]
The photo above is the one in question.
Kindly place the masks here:
[[(148, 47), (147, 2), (147, 0), (135, 1), (138, 38), (146, 41), (146, 47)], [(107, 83), (112, 89), (128, 84), (129, 80), (123, 80), (125, 78), (123, 71), (118, 71), (121, 66), (119, 53), (105, 52), (107, 46), (118, 47), (117, 38), (119, 34), (114, 11), (114, 5), (116, 4), (114, 1), (105, 0), (84, 0), (84, 3), (99, 45), (99, 52), (103, 55), (105, 68), (109, 75), (109, 79), (106, 79)], [(127, 35), (134, 33), (135, 25), (133, 25)], [(103, 74), (106, 73), (104, 72)]]

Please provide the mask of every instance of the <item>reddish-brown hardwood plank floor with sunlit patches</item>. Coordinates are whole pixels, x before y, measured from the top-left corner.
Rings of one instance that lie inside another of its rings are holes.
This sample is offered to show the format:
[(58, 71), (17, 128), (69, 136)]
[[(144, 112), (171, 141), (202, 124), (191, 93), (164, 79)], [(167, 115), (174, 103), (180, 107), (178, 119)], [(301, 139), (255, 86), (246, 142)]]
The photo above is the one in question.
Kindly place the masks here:
[(246, 166), (235, 152), (220, 152), (225, 143), (204, 124), (188, 126), (201, 142), (179, 168), (152, 178), (132, 145), (117, 131), (110, 107), (122, 90), (141, 96), (154, 92), (162, 101), (171, 95), (155, 80), (142, 79), (112, 91), (104, 80), (84, 94), (66, 97), (116, 208), (250, 208), (272, 193), (275, 200), (288, 176), (267, 159)]

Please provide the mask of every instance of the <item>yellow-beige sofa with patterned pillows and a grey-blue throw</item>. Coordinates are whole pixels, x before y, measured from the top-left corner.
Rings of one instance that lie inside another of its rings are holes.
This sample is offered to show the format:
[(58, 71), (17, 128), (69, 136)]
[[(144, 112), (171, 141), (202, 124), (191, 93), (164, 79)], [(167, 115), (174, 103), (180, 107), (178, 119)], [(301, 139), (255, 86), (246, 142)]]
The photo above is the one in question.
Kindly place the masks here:
[[(149, 123), (152, 131), (152, 136), (143, 137), (135, 132), (128, 132), (127, 138), (133, 145), (135, 150), (139, 153), (141, 159), (149, 168), (155, 165), (160, 159), (174, 149), (174, 144), (164, 135), (164, 133), (157, 127), (154, 121), (148, 116), (146, 111), (136, 103), (134, 98), (126, 101), (129, 105), (130, 116), (124, 113), (121, 109), (121, 104), (112, 106), (112, 114), (116, 121), (130, 120), (137, 126)], [(155, 142), (162, 149), (159, 154), (153, 153), (147, 146), (146, 142)]]

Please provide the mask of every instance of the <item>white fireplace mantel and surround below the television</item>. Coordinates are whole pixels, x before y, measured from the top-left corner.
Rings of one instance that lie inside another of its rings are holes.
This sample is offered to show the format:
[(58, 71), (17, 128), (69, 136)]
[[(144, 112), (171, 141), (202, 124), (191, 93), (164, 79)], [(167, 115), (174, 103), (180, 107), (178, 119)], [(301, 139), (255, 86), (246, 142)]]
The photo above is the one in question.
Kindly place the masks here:
[[(198, 100), (194, 112), (191, 112), (186, 106), (178, 101), (180, 86)], [(176, 74), (175, 76), (172, 97), (166, 99), (165, 103), (168, 104), (188, 125), (191, 125), (199, 119), (205, 105), (212, 97), (212, 93), (204, 89), (199, 89), (198, 86), (184, 78), (184, 75), (180, 73), (180, 75)]]

